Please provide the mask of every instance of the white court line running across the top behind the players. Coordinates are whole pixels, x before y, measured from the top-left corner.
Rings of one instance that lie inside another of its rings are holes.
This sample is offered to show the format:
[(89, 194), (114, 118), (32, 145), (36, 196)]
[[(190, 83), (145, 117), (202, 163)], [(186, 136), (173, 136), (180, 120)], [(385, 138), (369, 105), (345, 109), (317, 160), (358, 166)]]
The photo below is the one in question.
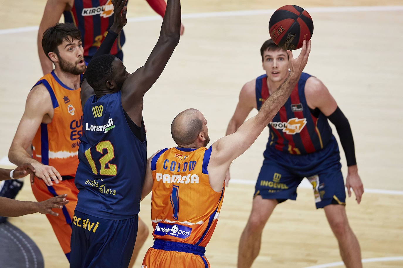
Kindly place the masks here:
[[(220, 11), (220, 12), (203, 12), (182, 14), (182, 18), (212, 18), (212, 17), (228, 17), (228, 16), (250, 16), (272, 14), (276, 9), (265, 10), (238, 10), (238, 11)], [(308, 8), (310, 13), (322, 12), (368, 12), (368, 11), (403, 11), (403, 6), (329, 6), (329, 7), (311, 7)], [(161, 20), (160, 16), (144, 16), (128, 18), (127, 22), (141, 22)], [(10, 33), (25, 33), (38, 31), (39, 26), (27, 26), (19, 28), (10, 28), (0, 30), (0, 35)]]

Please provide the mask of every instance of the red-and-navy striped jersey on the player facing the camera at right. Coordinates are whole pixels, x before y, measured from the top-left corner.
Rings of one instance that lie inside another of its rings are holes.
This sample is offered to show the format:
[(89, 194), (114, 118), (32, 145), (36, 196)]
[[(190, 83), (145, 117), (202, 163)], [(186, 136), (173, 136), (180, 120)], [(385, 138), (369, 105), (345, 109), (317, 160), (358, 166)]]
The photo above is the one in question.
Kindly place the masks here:
[[(305, 82), (311, 75), (302, 73), (291, 96), (268, 124), (270, 135), (266, 146), (290, 154), (306, 154), (319, 151), (332, 138), (332, 129), (326, 116), (311, 112), (305, 99)], [(256, 78), (256, 102), (258, 110), (269, 97), (266, 74)], [(317, 112), (317, 113), (316, 113)], [(268, 157), (266, 151), (263, 153)]]

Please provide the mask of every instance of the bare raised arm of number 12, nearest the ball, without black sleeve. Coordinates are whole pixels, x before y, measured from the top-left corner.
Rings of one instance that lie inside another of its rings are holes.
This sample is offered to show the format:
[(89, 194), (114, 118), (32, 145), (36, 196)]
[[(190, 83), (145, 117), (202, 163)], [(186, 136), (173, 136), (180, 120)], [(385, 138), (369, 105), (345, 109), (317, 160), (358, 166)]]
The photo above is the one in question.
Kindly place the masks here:
[(160, 77), (179, 43), (181, 1), (168, 0), (160, 37), (145, 64), (131, 74), (122, 86), (122, 105), (136, 125), (141, 125), (143, 96)]

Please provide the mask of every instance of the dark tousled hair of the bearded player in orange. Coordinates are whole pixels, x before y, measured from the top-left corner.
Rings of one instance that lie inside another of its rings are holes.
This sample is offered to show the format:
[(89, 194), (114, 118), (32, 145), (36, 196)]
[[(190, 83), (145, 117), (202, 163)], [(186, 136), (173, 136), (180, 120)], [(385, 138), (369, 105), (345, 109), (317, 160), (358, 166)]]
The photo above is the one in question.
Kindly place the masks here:
[(59, 55), (58, 45), (64, 40), (73, 42), (73, 39), (81, 39), (81, 32), (73, 23), (56, 23), (56, 25), (49, 27), (42, 35), (42, 48), (46, 57), (50, 59), (49, 52)]

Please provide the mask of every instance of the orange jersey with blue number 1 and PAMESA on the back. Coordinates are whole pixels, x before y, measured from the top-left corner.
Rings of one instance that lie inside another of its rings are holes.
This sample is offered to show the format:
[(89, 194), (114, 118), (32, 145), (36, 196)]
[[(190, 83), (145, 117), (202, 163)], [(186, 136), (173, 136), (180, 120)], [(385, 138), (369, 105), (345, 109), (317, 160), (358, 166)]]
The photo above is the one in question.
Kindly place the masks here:
[(205, 247), (218, 221), (224, 195), (210, 186), (212, 148), (170, 148), (151, 161), (154, 239)]

